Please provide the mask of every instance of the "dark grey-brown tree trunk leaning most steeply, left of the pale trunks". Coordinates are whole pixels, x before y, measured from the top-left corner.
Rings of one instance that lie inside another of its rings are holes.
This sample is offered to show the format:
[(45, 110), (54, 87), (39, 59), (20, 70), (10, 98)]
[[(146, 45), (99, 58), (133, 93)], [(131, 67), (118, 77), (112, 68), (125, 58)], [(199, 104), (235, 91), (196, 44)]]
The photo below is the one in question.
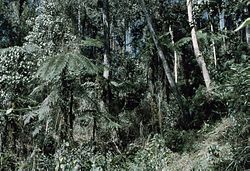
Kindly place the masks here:
[(152, 25), (152, 21), (151, 21), (151, 18), (148, 14), (148, 11), (147, 11), (147, 8), (146, 8), (146, 5), (145, 5), (145, 2), (144, 0), (140, 0), (141, 1), (141, 6), (142, 6), (142, 10), (144, 12), (144, 15), (146, 17), (146, 20), (147, 20), (147, 24), (148, 24), (148, 28), (149, 28), (149, 31), (150, 31), (150, 34), (153, 38), (153, 41), (154, 41), (154, 44), (155, 44), (155, 47), (157, 49), (157, 53), (158, 53), (158, 56), (160, 57), (161, 59), (161, 62), (162, 62), (162, 65), (163, 65), (163, 69), (164, 69), (164, 73), (167, 77), (167, 80), (168, 80), (168, 83), (174, 93), (174, 96), (178, 102), (178, 105), (179, 107), (181, 108), (181, 111), (184, 115), (187, 114), (187, 110), (184, 109), (184, 104), (183, 104), (183, 101), (182, 101), (182, 96), (178, 90), (178, 87), (173, 79), (173, 76), (172, 76), (172, 73), (171, 73), (171, 70), (170, 70), (170, 67), (169, 67), (169, 64), (166, 60), (166, 57), (164, 56), (164, 53), (162, 51), (162, 48), (160, 47), (160, 44), (159, 44), (159, 41), (158, 41), (158, 38), (156, 36), (156, 33), (154, 31), (154, 28), (153, 28), (153, 25)]

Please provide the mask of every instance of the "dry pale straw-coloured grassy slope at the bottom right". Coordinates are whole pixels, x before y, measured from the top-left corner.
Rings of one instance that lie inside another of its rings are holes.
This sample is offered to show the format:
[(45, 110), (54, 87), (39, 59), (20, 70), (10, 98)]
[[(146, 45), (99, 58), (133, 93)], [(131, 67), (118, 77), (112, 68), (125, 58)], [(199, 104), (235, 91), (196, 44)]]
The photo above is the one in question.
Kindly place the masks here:
[(232, 146), (227, 142), (226, 137), (233, 125), (232, 118), (223, 118), (214, 125), (205, 124), (197, 132), (198, 138), (192, 142), (192, 150), (182, 154), (174, 153), (167, 163), (167, 170), (190, 171), (194, 168), (195, 170), (207, 170), (210, 166), (232, 160)]

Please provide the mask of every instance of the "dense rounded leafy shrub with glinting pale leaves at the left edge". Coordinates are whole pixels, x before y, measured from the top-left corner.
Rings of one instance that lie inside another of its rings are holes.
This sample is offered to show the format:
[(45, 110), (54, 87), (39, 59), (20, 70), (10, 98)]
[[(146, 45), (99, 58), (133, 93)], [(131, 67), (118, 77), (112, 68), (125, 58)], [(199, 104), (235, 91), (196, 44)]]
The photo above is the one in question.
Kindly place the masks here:
[[(10, 47), (0, 52), (0, 99), (5, 104), (19, 92), (26, 92), (38, 68), (37, 55), (30, 46)], [(1, 105), (0, 105), (1, 106)]]

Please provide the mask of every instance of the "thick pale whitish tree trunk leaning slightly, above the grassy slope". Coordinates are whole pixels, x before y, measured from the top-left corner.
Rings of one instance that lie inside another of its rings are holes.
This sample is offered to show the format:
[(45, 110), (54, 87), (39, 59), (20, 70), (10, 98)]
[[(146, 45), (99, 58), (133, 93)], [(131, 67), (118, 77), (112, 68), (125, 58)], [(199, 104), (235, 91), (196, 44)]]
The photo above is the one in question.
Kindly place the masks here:
[(193, 20), (193, 9), (192, 9), (192, 0), (187, 0), (187, 9), (188, 9), (188, 21), (191, 27), (191, 36), (192, 36), (192, 42), (193, 42), (193, 48), (194, 48), (194, 54), (196, 57), (196, 60), (198, 62), (199, 67), (201, 68), (202, 75), (205, 81), (205, 85), (207, 90), (210, 90), (210, 76), (206, 67), (206, 63), (204, 60), (204, 57), (202, 53), (200, 52), (199, 49), (199, 44), (196, 36), (196, 30), (195, 30), (195, 25), (194, 25), (194, 20)]

